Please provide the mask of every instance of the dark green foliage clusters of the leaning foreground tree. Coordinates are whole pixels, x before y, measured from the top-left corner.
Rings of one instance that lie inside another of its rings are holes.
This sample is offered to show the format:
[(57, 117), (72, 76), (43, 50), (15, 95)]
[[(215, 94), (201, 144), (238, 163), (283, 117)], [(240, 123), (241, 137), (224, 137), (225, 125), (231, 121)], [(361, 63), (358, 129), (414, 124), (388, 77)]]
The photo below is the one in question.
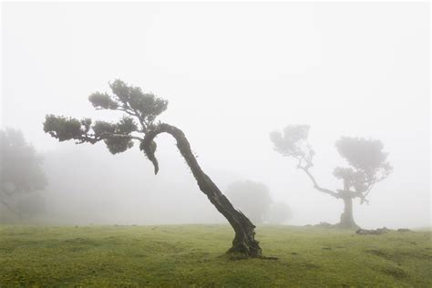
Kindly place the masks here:
[(155, 119), (168, 107), (168, 101), (140, 87), (129, 86), (121, 80), (109, 83), (112, 94), (96, 92), (88, 100), (96, 109), (123, 112), (117, 123), (93, 121), (90, 118), (66, 118), (47, 115), (44, 131), (59, 141), (74, 139), (77, 143), (97, 143), (104, 140), (109, 151), (117, 154), (133, 146), (133, 139), (143, 140), (149, 129), (154, 129)]

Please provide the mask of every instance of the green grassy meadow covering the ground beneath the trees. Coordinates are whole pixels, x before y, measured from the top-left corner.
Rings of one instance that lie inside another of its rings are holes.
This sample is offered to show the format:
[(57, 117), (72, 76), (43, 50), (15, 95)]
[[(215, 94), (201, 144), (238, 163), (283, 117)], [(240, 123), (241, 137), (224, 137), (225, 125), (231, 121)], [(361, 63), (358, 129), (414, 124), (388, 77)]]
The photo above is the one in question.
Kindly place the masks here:
[(0, 226), (0, 287), (432, 286), (430, 231), (263, 226), (266, 256), (223, 256), (223, 225)]

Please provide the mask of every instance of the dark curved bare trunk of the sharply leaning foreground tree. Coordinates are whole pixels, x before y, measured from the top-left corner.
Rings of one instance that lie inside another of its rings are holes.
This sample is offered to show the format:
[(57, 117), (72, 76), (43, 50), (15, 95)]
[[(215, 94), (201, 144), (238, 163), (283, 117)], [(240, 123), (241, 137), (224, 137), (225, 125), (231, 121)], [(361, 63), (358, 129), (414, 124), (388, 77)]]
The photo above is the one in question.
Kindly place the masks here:
[(235, 210), (231, 202), (221, 193), (221, 190), (213, 183), (210, 177), (201, 170), (183, 131), (165, 123), (159, 124), (154, 129), (150, 129), (140, 145), (140, 149), (144, 150), (146, 156), (153, 163), (155, 174), (159, 171), (159, 164), (154, 154), (156, 144), (153, 139), (164, 132), (169, 133), (176, 139), (177, 148), (190, 167), (200, 190), (207, 195), (216, 209), (230, 222), (235, 236), (232, 241), (232, 247), (228, 252), (237, 252), (243, 257), (261, 257), (262, 251), (259, 242), (255, 240), (255, 226), (241, 211)]

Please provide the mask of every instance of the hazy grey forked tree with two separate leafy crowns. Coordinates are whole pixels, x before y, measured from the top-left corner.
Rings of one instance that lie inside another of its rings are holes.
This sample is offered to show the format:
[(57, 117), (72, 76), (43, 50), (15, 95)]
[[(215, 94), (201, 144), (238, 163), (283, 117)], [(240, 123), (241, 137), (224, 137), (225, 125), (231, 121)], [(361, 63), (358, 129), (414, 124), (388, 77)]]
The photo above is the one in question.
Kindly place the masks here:
[(358, 228), (353, 217), (353, 200), (360, 199), (360, 204), (368, 203), (366, 197), (375, 184), (385, 180), (393, 168), (386, 160), (384, 145), (377, 139), (342, 137), (335, 143), (339, 154), (346, 160), (349, 167), (336, 167), (333, 175), (342, 180), (341, 189), (323, 188), (315, 180), (311, 172), (314, 166), (314, 149), (308, 143), (309, 126), (289, 125), (283, 133), (273, 131), (270, 139), (274, 149), (285, 157), (297, 160), (297, 169), (303, 170), (314, 189), (344, 201), (345, 210), (337, 226), (346, 229)]

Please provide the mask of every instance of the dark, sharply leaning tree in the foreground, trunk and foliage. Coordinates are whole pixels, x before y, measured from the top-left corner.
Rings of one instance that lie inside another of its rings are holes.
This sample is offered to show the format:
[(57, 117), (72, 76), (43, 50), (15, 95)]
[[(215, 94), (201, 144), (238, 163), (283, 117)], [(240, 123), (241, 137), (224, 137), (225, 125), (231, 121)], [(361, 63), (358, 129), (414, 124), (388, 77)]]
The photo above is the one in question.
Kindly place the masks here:
[(121, 80), (115, 80), (109, 87), (111, 94), (96, 92), (90, 95), (88, 100), (96, 109), (122, 112), (123, 117), (117, 123), (46, 115), (44, 131), (59, 141), (75, 140), (77, 144), (103, 141), (112, 154), (124, 152), (132, 148), (134, 142), (139, 142), (139, 149), (153, 164), (155, 174), (159, 171), (155, 138), (161, 133), (170, 134), (176, 140), (177, 148), (200, 190), (230, 222), (234, 230), (234, 240), (228, 252), (242, 257), (260, 257), (262, 250), (254, 237), (255, 226), (241, 211), (234, 209), (216, 184), (201, 170), (184, 133), (172, 125), (155, 121), (167, 109), (168, 101), (151, 93), (144, 93), (140, 87), (129, 86)]

